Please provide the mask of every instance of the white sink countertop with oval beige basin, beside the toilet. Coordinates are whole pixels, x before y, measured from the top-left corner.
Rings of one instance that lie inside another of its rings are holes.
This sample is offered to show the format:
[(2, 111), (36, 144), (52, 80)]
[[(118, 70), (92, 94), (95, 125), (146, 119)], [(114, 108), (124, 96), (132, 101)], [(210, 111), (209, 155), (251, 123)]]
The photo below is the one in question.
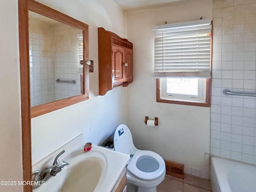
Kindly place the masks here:
[(129, 156), (99, 146), (73, 152), (66, 166), (33, 192), (110, 192), (125, 168)]

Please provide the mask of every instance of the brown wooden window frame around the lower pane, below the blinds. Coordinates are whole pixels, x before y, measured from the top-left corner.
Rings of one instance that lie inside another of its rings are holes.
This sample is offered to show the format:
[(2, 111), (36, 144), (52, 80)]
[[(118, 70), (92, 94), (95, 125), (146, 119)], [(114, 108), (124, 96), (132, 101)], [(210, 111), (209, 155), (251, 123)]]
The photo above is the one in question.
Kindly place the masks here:
[(159, 103), (170, 103), (179, 105), (190, 105), (190, 106), (200, 106), (200, 107), (211, 107), (211, 87), (212, 78), (206, 79), (205, 82), (205, 102), (195, 102), (195, 101), (181, 101), (181, 100), (170, 100), (161, 98), (161, 79), (156, 79), (156, 102)]

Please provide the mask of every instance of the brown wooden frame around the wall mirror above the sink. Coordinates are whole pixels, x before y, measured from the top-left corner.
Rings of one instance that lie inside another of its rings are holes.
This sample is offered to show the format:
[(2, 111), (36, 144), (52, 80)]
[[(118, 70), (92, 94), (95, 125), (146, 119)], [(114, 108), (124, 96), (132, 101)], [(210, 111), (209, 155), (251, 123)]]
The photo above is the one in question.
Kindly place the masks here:
[[(72, 26), (74, 28), (78, 28), (80, 30), (83, 31), (83, 61), (88, 60), (88, 25), (84, 24), (83, 22), (80, 22), (70, 16), (67, 16), (61, 12), (58, 12), (48, 6), (45, 6), (44, 4), (41, 4), (39, 2), (36, 2), (34, 0), (28, 0), (28, 11), (32, 11), (35, 13), (38, 13), (40, 15), (46, 16), (48, 18), (57, 20), (63, 24), (67, 24), (69, 26)], [(20, 38), (24, 38), (28, 41), (28, 23), (24, 23), (24, 26), (20, 26), (20, 27), (24, 27), (25, 29), (27, 29), (26, 31), (24, 30), (23, 33), (20, 33)], [(26, 38), (27, 37), (27, 38)], [(24, 47), (22, 49), (20, 49), (20, 52), (28, 52), (28, 48), (29, 47)], [(25, 54), (24, 54), (25, 55)], [(27, 57), (29, 57), (28, 54), (26, 54)], [(28, 58), (26, 60), (20, 60), (20, 65), (22, 68), (29, 68), (29, 63), (28, 63)], [(85, 62), (84, 62), (85, 63)], [(28, 69), (29, 70), (29, 69)], [(66, 106), (70, 106), (72, 104), (87, 100), (89, 98), (89, 66), (84, 64), (83, 67), (83, 90), (82, 90), (82, 94), (77, 95), (77, 96), (72, 96), (69, 98), (64, 98), (61, 100), (56, 100), (56, 101), (52, 101), (52, 102), (48, 102), (45, 104), (40, 104), (38, 106), (33, 106), (31, 107), (31, 118), (46, 114), (48, 112), (52, 112), (55, 110), (58, 110), (60, 108), (64, 108)], [(25, 77), (24, 77), (25, 78)]]

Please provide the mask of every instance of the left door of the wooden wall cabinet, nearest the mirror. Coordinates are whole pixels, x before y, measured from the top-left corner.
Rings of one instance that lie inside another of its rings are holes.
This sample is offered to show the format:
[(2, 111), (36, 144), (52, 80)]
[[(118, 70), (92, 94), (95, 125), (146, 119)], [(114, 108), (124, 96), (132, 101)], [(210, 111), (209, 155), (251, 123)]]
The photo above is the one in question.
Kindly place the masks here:
[(112, 45), (112, 83), (124, 80), (123, 63), (124, 48)]

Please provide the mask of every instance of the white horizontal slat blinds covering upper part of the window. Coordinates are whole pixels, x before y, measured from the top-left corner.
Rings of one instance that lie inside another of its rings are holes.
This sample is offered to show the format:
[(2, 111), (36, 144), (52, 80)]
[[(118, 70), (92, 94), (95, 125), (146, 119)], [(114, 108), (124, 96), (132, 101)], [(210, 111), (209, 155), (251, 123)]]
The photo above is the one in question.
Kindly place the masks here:
[(156, 78), (210, 78), (211, 20), (156, 26)]

